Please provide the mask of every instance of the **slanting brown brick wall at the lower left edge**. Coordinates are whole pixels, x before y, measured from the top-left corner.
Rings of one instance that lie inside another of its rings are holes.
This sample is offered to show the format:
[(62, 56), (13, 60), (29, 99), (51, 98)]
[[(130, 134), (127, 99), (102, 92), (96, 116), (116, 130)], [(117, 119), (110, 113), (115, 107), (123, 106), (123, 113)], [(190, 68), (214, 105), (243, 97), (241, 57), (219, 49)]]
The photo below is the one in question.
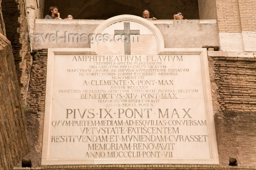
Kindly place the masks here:
[(0, 34), (0, 169), (11, 169), (29, 152), (24, 108), (11, 42)]

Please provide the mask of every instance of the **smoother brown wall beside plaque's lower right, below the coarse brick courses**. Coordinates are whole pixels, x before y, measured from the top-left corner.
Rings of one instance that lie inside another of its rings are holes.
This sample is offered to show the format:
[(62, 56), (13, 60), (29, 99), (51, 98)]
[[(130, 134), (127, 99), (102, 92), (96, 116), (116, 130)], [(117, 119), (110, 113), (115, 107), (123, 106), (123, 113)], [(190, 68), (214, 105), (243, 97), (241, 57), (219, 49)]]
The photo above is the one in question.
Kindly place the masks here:
[(256, 166), (255, 123), (256, 112), (222, 111), (215, 114), (220, 163)]

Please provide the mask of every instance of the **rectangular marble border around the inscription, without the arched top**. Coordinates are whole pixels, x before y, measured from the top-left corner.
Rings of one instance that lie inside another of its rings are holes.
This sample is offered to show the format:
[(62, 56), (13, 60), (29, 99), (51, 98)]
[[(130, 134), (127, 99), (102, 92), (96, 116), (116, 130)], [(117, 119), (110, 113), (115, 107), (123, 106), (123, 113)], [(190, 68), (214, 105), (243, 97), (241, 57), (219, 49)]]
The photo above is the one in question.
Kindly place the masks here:
[[(50, 132), (50, 108), (52, 108), (52, 99), (53, 99), (53, 84), (49, 83), (53, 82), (53, 72), (54, 72), (54, 56), (55, 55), (72, 55), (72, 54), (87, 54), (92, 55), (89, 48), (80, 49), (80, 48), (70, 48), (70, 49), (62, 49), (62, 48), (51, 48), (48, 49), (48, 62), (47, 62), (47, 76), (46, 76), (46, 95), (45, 95), (45, 117), (44, 117), (44, 135), (43, 135), (43, 145), (42, 145), (42, 162), (41, 165), (80, 165), (80, 164), (127, 164), (127, 160), (87, 160), (87, 161), (58, 161), (58, 160), (47, 160), (49, 146), (48, 142), (44, 141), (49, 140), (49, 132)], [(210, 74), (208, 69), (208, 59), (207, 59), (207, 50), (206, 48), (165, 48), (165, 54), (169, 55), (185, 55), (185, 54), (199, 54), (201, 60), (201, 69), (202, 69), (202, 80), (204, 86), (204, 102), (206, 107), (206, 119), (207, 119), (207, 131), (208, 131), (208, 139), (210, 146), (210, 154), (211, 159), (209, 160), (165, 160), (160, 161), (156, 159), (156, 163), (153, 160), (143, 160), (143, 164), (219, 164), (218, 159), (218, 148), (217, 148), (217, 139), (215, 134), (215, 124), (214, 124), (214, 114), (212, 107), (212, 97), (211, 97), (211, 85), (210, 85)], [(47, 135), (46, 135), (47, 134)], [(142, 161), (142, 160), (140, 160)], [(63, 163), (64, 162), (64, 163)], [(75, 163), (76, 162), (76, 163)], [(129, 161), (132, 163), (129, 164), (138, 164), (138, 160), (134, 159)]]

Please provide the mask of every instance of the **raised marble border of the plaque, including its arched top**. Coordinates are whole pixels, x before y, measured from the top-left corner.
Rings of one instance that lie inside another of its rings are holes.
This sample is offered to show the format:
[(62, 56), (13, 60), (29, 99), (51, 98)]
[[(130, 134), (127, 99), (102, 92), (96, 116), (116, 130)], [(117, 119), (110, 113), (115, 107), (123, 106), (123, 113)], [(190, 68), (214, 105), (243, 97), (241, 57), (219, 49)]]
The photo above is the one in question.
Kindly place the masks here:
[[(200, 55), (201, 60), (201, 69), (202, 69), (202, 80), (203, 80), (203, 88), (204, 88), (204, 103), (206, 109), (206, 119), (207, 119), (207, 131), (209, 135), (209, 147), (211, 159), (207, 160), (158, 160), (154, 162), (154, 159), (146, 160), (140, 159), (139, 161), (136, 159), (129, 160), (129, 164), (219, 164), (218, 159), (218, 148), (217, 148), (217, 139), (215, 134), (215, 124), (214, 124), (214, 113), (212, 107), (212, 97), (211, 97), (211, 85), (210, 85), (210, 74), (208, 67), (208, 59), (207, 59), (207, 50), (206, 48), (165, 48), (163, 36), (158, 28), (150, 21), (145, 20), (139, 16), (134, 15), (119, 15), (108, 20), (105, 20), (95, 29), (94, 34), (100, 34), (105, 28), (110, 26), (111, 24), (117, 22), (137, 22), (141, 23), (147, 28), (149, 28), (155, 35), (157, 40), (157, 53), (168, 54), (168, 55), (185, 55), (185, 54), (198, 54)], [(42, 144), (42, 162), (41, 165), (81, 165), (81, 164), (127, 164), (127, 160), (105, 160), (105, 159), (97, 159), (97, 160), (87, 160), (87, 161), (78, 161), (78, 160), (47, 160), (48, 156), (48, 141), (49, 132), (50, 132), (50, 108), (52, 107), (52, 98), (53, 98), (53, 72), (54, 72), (54, 57), (55, 55), (71, 55), (71, 54), (81, 54), (81, 55), (97, 55), (97, 41), (90, 48), (49, 48), (48, 49), (48, 61), (47, 61), (47, 75), (46, 75), (46, 95), (45, 95), (45, 117), (44, 117), (44, 135), (43, 135), (43, 144)]]

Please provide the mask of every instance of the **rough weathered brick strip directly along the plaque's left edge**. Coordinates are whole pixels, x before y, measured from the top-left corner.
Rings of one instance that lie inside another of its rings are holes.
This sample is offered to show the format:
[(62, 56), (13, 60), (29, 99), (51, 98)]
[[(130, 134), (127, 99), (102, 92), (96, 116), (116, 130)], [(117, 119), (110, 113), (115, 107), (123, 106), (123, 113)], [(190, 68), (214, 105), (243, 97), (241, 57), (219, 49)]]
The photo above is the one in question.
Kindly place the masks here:
[[(29, 92), (27, 94), (27, 131), (30, 139), (31, 152), (23, 160), (31, 162), (32, 167), (41, 165), (42, 135), (44, 128), (45, 89), (46, 89), (47, 49), (35, 54), (31, 69)], [(19, 162), (17, 166), (22, 166)]]

